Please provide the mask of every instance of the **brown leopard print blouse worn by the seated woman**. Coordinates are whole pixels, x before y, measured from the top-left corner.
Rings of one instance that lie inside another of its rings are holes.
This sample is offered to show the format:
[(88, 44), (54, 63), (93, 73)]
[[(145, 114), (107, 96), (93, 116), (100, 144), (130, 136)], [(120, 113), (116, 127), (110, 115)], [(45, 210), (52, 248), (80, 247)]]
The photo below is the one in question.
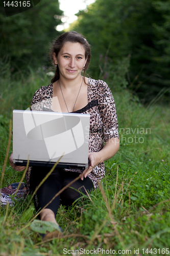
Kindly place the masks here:
[[(42, 86), (37, 90), (32, 99), (31, 108), (36, 111), (44, 109), (52, 110), (53, 84)], [(113, 95), (106, 82), (102, 80), (88, 79), (88, 104), (74, 113), (90, 114), (89, 152), (99, 152), (108, 139), (118, 136), (118, 123)], [(65, 169), (68, 170), (68, 169)], [(79, 169), (69, 169), (71, 172), (82, 173)], [(29, 167), (26, 179), (29, 186), (31, 167)], [(94, 187), (105, 175), (104, 162), (95, 166), (88, 177)]]

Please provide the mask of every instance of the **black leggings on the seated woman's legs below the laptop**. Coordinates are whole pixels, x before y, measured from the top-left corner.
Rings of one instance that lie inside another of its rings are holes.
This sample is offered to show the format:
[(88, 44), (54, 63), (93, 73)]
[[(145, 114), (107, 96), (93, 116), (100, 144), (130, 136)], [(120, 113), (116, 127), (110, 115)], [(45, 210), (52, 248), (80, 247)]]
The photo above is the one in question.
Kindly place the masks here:
[[(35, 190), (41, 180), (50, 172), (51, 168), (34, 166), (31, 170), (30, 189)], [(45, 180), (45, 182), (37, 190), (35, 196), (36, 210), (42, 209), (51, 199), (68, 183), (78, 177), (80, 174), (76, 172), (66, 172), (64, 169), (55, 168), (53, 173)], [(60, 204), (70, 206), (82, 194), (86, 195), (86, 190), (89, 192), (93, 189), (92, 181), (86, 177), (72, 183), (70, 187), (66, 188), (58, 197), (56, 197), (46, 208), (53, 210), (55, 216)]]

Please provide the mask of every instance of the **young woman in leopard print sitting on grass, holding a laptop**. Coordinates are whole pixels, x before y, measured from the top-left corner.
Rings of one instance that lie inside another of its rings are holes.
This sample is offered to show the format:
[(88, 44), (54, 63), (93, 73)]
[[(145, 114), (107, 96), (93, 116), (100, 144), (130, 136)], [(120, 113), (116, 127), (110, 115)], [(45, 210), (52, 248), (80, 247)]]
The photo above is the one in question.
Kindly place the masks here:
[[(109, 87), (102, 80), (85, 77), (90, 61), (87, 40), (74, 31), (64, 33), (53, 42), (50, 57), (56, 65), (55, 76), (52, 83), (35, 92), (32, 110), (42, 111), (45, 108), (55, 112), (90, 114), (88, 168), (82, 171), (56, 167), (35, 197), (36, 207), (41, 209), (62, 187), (82, 174), (81, 179), (41, 211), (41, 220), (57, 224), (60, 200), (62, 205), (70, 206), (82, 193), (86, 194), (86, 191), (98, 186), (105, 175), (104, 161), (113, 157), (119, 149), (119, 136), (115, 103)], [(16, 170), (25, 168), (15, 166), (12, 156), (10, 163)], [(49, 171), (50, 168), (46, 167), (29, 167), (26, 178), (30, 189), (34, 190)]]

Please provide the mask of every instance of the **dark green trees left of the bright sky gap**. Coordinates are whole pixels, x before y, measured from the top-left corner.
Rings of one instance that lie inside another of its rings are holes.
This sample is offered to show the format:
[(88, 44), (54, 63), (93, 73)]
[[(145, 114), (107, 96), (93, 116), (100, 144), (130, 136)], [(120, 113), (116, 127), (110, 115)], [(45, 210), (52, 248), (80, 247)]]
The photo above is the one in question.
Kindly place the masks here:
[(32, 9), (9, 17), (0, 13), (0, 57), (12, 60), (11, 71), (23, 70), (29, 63), (44, 65), (48, 44), (58, 35), (54, 27), (61, 23), (54, 15), (61, 14), (58, 0), (41, 0)]

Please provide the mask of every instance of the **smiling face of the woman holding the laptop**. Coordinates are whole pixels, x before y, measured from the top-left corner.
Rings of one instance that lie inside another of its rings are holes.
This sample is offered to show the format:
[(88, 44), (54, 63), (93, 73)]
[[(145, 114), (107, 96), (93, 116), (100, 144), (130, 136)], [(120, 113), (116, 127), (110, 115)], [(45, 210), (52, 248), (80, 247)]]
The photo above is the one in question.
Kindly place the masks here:
[(53, 55), (55, 64), (58, 64), (60, 77), (72, 80), (81, 76), (85, 66), (85, 49), (79, 42), (66, 42), (58, 56)]

